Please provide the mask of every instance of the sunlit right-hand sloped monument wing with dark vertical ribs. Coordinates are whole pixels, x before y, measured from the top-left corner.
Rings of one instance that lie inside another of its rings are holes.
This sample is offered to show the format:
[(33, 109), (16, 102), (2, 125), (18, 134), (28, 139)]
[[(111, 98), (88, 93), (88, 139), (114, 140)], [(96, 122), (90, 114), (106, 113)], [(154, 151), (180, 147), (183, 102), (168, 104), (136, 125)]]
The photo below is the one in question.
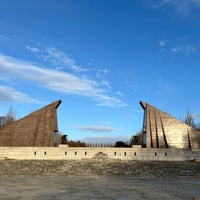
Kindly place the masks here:
[(159, 109), (140, 102), (147, 148), (199, 149), (200, 132)]

